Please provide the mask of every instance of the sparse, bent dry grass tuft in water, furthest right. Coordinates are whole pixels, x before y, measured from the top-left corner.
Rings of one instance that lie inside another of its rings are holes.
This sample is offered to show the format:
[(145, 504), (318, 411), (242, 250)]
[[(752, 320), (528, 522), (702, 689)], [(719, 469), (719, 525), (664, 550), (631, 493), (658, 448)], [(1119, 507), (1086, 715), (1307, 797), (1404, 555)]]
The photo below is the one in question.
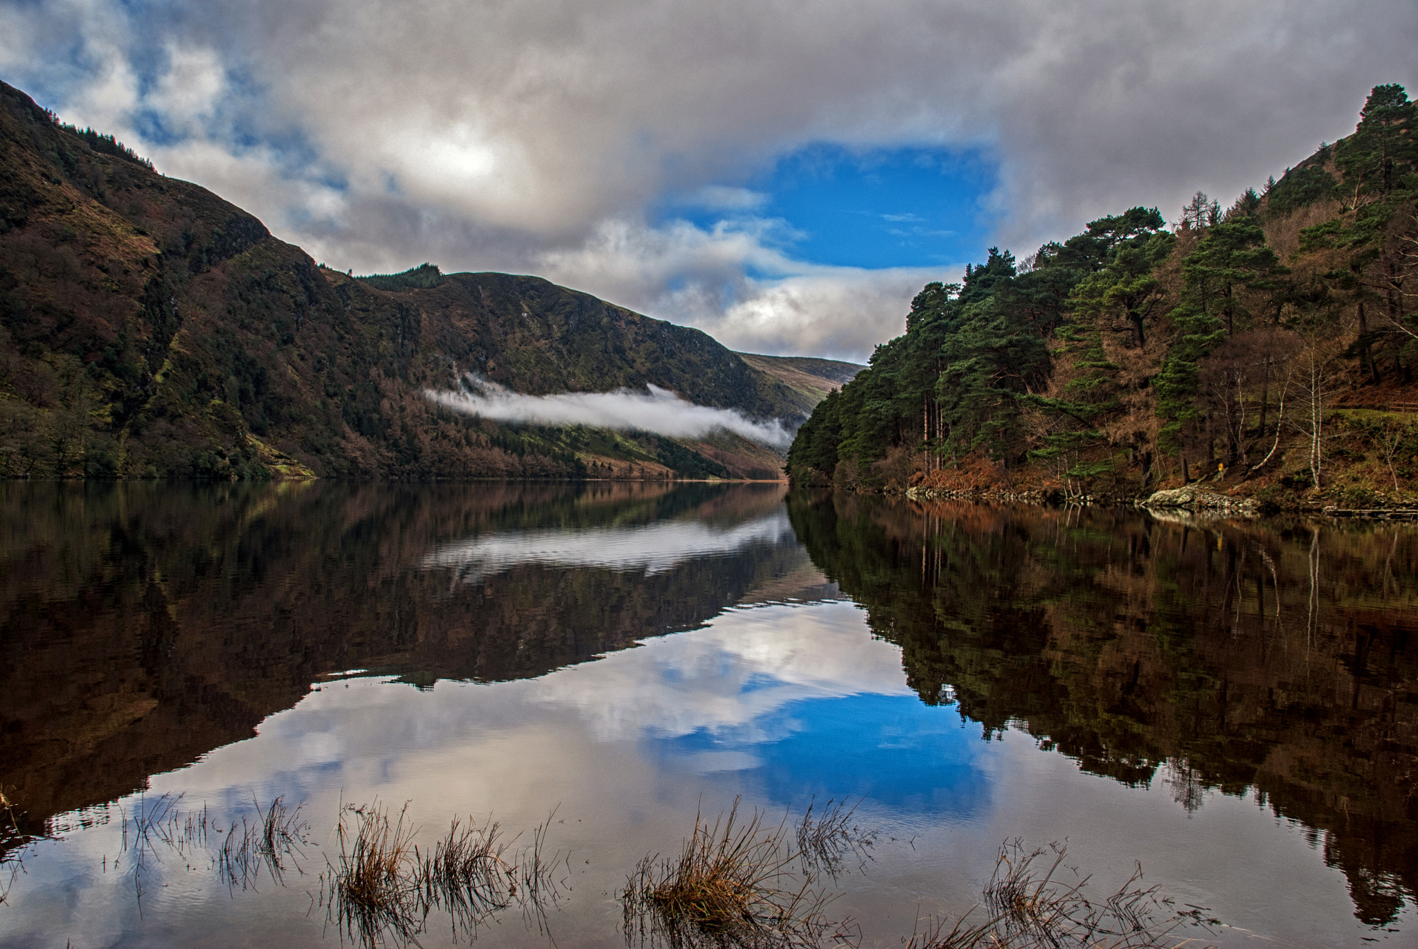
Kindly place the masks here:
[(1205, 909), (1178, 909), (1157, 887), (1144, 887), (1141, 868), (1095, 902), (1083, 894), (1089, 878), (1065, 857), (1064, 844), (1027, 851), (1020, 840), (1007, 843), (984, 889), (986, 918), (971, 923), (971, 909), (949, 931), (944, 919), (927, 922), (906, 949), (1176, 949), (1195, 942), (1178, 938), (1183, 926), (1218, 925)]

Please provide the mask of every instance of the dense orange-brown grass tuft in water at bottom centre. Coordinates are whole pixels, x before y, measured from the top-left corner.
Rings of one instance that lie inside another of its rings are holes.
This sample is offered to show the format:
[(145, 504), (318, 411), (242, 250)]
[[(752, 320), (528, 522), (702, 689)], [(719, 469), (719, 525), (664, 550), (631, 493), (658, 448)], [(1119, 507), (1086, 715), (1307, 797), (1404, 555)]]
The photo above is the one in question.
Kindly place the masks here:
[(800, 853), (784, 838), (784, 826), (766, 826), (757, 811), (740, 824), (739, 799), (712, 826), (696, 814), (679, 857), (645, 857), (621, 891), (627, 940), (671, 949), (855, 942), (849, 921), (827, 918), (831, 897), (813, 891), (810, 877), (794, 885)]

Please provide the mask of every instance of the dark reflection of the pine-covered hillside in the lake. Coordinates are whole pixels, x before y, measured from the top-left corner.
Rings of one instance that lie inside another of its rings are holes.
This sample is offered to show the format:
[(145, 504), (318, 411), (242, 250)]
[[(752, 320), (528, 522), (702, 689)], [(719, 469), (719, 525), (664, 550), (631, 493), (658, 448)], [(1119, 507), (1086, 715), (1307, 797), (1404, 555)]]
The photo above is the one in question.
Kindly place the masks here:
[(1418, 531), (797, 498), (828, 577), (926, 704), (1188, 811), (1323, 831), (1356, 914), (1418, 888)]

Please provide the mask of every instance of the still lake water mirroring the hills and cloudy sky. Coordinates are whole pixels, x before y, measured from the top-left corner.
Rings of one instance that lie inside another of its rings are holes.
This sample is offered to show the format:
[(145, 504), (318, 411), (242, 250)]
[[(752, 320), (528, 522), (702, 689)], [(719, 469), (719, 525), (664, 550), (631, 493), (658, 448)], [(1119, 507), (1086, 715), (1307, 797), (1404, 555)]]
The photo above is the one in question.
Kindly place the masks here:
[[(637, 861), (736, 797), (856, 803), (818, 885), (864, 946), (1014, 838), (1100, 895), (1140, 862), (1221, 921), (1194, 945), (1418, 945), (1412, 525), (624, 484), (3, 484), (0, 518), (0, 945), (340, 945), (353, 804), (423, 847), (545, 827), (554, 899), (476, 942), (624, 946)], [(277, 797), (303, 843), (233, 872)]]

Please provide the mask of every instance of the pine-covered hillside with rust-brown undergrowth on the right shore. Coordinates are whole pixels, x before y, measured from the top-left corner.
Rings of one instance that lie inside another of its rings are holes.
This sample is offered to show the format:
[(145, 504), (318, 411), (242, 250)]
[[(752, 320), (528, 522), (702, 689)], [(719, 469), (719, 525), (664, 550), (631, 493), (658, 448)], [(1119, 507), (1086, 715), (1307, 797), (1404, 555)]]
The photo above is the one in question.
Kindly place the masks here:
[(1418, 139), (1398, 85), (1222, 210), (1133, 207), (929, 284), (827, 397), (798, 482), (1418, 506)]

